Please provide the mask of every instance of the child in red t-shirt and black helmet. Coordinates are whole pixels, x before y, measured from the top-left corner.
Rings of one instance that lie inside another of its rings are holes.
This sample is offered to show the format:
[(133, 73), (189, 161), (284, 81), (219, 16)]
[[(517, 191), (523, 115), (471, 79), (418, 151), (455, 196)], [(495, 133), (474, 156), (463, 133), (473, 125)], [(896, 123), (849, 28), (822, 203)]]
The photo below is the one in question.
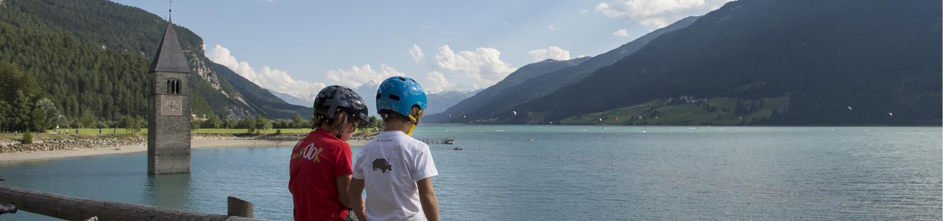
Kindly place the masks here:
[(311, 119), (315, 130), (291, 150), (295, 220), (348, 219), (352, 166), (347, 141), (358, 124), (367, 124), (367, 113), (363, 98), (348, 88), (329, 86), (318, 93)]

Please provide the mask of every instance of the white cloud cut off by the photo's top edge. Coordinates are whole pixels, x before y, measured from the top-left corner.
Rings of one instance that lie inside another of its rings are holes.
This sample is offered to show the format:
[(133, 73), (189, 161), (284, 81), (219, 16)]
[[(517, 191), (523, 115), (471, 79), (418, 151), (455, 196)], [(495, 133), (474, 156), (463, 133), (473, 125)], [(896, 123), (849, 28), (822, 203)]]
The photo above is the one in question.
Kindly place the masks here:
[(732, 0), (611, 0), (596, 5), (610, 18), (626, 18), (642, 26), (663, 27), (692, 15), (703, 15)]

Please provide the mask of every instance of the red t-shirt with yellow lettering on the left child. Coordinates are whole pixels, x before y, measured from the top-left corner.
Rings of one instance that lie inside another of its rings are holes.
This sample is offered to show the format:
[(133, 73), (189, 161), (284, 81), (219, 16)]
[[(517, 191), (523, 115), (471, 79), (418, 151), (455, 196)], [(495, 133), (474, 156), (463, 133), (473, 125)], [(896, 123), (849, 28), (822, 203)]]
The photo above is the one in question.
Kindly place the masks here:
[(295, 220), (347, 217), (347, 208), (340, 204), (337, 178), (351, 172), (350, 144), (326, 130), (311, 131), (295, 144), (289, 170)]

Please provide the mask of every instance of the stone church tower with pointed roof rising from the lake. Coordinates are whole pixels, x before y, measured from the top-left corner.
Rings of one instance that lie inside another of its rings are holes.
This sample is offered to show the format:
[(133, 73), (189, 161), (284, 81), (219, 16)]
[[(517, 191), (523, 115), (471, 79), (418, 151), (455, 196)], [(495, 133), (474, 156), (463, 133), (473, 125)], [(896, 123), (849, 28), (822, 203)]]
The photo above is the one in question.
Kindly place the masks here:
[(190, 65), (168, 21), (147, 72), (147, 172), (190, 173)]

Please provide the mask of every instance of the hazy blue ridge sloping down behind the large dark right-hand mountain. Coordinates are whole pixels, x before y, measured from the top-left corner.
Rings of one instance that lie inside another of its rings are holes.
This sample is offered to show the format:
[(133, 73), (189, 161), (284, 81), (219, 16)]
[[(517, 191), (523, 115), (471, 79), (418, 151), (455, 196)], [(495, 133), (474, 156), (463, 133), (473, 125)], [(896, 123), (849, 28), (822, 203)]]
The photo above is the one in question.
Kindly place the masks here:
[[(446, 110), (443, 114), (430, 116), (429, 118), (433, 122), (448, 122), (452, 120), (456, 122), (466, 122), (470, 119), (487, 119), (492, 115), (492, 112), (495, 111), (510, 112), (512, 110), (506, 110), (507, 107), (537, 98), (547, 93), (552, 93), (565, 85), (575, 83), (583, 77), (588, 76), (593, 71), (635, 53), (639, 48), (652, 41), (654, 38), (678, 28), (691, 25), (694, 21), (697, 21), (698, 18), (699, 17), (696, 16), (687, 17), (670, 26), (658, 28), (632, 42), (622, 44), (616, 49), (612, 49), (596, 57), (572, 59), (570, 62), (555, 63), (555, 65), (554, 63), (541, 64), (542, 62), (548, 61), (544, 60), (533, 63), (539, 64), (534, 68), (525, 69), (533, 65), (528, 64), (527, 66), (521, 67), (517, 72), (505, 77), (505, 79), (498, 84), (488, 87), (488, 89), (479, 93), (479, 95), (455, 105), (452, 110)], [(505, 83), (505, 81), (507, 82)], [(464, 115), (467, 115), (467, 117), (462, 117), (462, 111), (465, 112)], [(449, 114), (451, 114), (452, 117), (449, 117)]]

